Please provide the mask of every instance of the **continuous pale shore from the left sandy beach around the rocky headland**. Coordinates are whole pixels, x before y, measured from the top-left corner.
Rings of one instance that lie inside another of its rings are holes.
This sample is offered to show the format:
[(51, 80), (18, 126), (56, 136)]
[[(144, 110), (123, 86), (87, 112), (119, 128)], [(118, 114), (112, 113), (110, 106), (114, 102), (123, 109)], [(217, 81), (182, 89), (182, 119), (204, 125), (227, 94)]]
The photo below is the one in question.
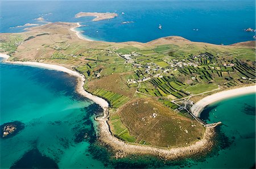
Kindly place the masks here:
[(98, 122), (98, 133), (100, 136), (99, 140), (105, 145), (109, 145), (110, 147), (112, 147), (112, 149), (115, 151), (115, 158), (123, 158), (126, 157), (126, 155), (128, 154), (151, 154), (163, 159), (173, 160), (180, 157), (187, 157), (189, 155), (198, 154), (203, 151), (210, 151), (211, 147), (214, 144), (212, 139), (215, 135), (214, 128), (206, 128), (204, 136), (201, 140), (196, 141), (192, 145), (188, 145), (186, 147), (172, 147), (170, 149), (167, 149), (163, 147), (143, 146), (126, 143), (122, 140), (119, 140), (110, 132), (110, 128), (107, 122), (109, 115), (108, 102), (84, 90), (84, 75), (59, 65), (44, 64), (40, 62), (7, 61), (9, 56), (7, 56), (7, 54), (1, 53), (0, 57), (6, 58), (6, 61), (3, 62), (7, 64), (32, 66), (48, 70), (63, 71), (64, 73), (68, 73), (69, 75), (77, 77), (77, 92), (79, 92), (79, 94), (81, 94), (82, 96), (85, 96), (86, 98), (92, 100), (94, 103), (100, 105), (104, 110), (103, 115), (95, 119)]

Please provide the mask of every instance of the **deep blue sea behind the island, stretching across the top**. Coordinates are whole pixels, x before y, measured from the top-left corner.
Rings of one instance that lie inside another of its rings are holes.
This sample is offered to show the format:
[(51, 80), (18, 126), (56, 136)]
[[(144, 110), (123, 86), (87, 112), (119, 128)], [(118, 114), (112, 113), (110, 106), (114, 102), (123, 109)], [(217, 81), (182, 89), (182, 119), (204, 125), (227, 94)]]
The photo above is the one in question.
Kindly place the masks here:
[[(80, 22), (84, 35), (94, 40), (147, 42), (182, 36), (191, 41), (233, 44), (254, 40), (255, 1), (0, 1), (0, 32), (24, 31), (26, 23)], [(110, 20), (75, 18), (78, 12), (116, 12)], [(124, 12), (125, 14), (122, 14)], [(122, 24), (122, 22), (133, 22)], [(162, 29), (158, 29), (159, 24)]]

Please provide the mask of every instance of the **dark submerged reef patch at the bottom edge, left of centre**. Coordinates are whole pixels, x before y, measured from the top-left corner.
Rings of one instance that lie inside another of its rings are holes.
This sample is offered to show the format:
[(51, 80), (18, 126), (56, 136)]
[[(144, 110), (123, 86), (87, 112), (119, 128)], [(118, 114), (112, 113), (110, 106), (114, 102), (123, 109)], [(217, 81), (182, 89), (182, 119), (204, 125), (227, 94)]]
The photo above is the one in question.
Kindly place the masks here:
[(42, 155), (38, 149), (32, 149), (25, 153), (22, 158), (13, 164), (10, 168), (59, 168), (57, 163), (45, 155)]

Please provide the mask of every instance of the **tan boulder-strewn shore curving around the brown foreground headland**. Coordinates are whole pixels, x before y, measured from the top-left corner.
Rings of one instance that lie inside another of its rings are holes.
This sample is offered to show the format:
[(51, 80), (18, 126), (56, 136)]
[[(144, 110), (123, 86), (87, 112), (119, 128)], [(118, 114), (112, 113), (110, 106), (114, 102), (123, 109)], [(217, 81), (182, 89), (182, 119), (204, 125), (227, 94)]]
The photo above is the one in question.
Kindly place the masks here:
[(214, 128), (206, 128), (201, 140), (185, 147), (163, 148), (126, 143), (113, 136), (110, 132), (106, 117), (108, 117), (108, 111), (105, 111), (104, 115), (97, 119), (99, 140), (114, 150), (115, 158), (124, 158), (127, 155), (140, 154), (155, 155), (156, 157), (165, 160), (175, 160), (209, 152), (214, 146), (213, 138), (216, 134)]

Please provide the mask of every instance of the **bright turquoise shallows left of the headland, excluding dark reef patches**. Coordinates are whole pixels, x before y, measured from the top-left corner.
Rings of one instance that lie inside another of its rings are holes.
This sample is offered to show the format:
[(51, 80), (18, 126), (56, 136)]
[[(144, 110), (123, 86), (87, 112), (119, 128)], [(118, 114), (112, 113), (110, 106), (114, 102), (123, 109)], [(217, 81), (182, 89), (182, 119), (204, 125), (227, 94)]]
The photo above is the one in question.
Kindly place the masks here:
[(1, 168), (11, 167), (32, 149), (53, 159), (60, 168), (103, 167), (88, 152), (94, 138), (76, 137), (79, 133), (93, 137), (89, 118), (98, 106), (76, 94), (74, 77), (5, 64), (0, 64), (0, 72), (0, 123), (18, 120), (25, 124), (16, 136), (1, 140)]

